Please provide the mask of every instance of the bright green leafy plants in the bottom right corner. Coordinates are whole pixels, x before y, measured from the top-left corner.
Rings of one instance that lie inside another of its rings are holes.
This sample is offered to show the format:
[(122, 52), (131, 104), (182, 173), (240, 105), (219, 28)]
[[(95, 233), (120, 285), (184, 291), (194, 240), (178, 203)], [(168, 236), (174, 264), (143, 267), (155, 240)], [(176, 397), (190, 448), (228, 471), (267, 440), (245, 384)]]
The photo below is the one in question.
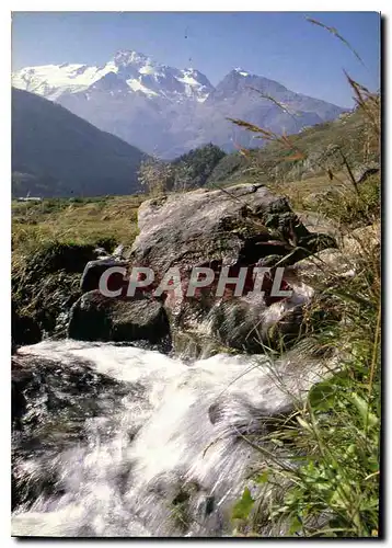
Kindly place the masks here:
[(376, 386), (370, 379), (372, 368), (366, 373), (368, 361), (357, 356), (348, 364), (349, 375), (314, 387), (307, 410), (297, 416), (297, 430), (289, 433), (292, 443), (295, 436), (301, 439), (307, 460), (285, 472), (289, 487), (273, 517), (285, 516), (301, 535), (368, 537), (378, 532), (380, 392), (379, 379)]

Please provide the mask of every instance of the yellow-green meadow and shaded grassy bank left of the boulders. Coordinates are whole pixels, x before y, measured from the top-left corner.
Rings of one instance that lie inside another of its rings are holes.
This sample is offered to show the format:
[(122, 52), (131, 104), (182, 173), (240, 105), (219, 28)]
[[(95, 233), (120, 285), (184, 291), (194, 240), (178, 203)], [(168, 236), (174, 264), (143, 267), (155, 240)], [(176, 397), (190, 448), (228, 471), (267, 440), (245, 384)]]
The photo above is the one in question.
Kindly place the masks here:
[(27, 320), (65, 336), (66, 324), (57, 318), (79, 298), (80, 275), (95, 259), (94, 248), (111, 252), (119, 242), (130, 244), (141, 201), (113, 196), (12, 203), (14, 341), (31, 342)]

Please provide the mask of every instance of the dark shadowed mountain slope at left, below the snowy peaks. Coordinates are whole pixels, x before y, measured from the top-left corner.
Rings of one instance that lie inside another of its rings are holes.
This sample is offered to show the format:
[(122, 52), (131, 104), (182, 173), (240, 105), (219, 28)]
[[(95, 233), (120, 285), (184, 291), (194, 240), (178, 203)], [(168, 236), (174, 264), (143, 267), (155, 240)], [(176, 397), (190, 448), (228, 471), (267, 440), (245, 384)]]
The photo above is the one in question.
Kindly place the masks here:
[(131, 194), (145, 158), (61, 105), (12, 89), (13, 196)]

